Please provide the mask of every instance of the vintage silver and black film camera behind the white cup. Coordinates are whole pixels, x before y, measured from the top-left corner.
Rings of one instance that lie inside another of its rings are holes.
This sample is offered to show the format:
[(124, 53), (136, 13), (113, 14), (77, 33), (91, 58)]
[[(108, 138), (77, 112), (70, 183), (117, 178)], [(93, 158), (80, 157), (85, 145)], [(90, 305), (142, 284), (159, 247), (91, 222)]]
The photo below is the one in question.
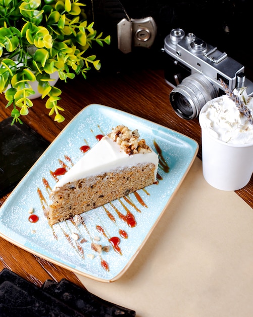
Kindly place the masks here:
[(224, 94), (220, 78), (233, 90), (246, 87), (253, 94), (253, 83), (244, 75), (244, 66), (220, 52), (193, 33), (176, 28), (165, 37), (165, 80), (174, 87), (170, 102), (176, 113), (191, 120), (207, 101)]

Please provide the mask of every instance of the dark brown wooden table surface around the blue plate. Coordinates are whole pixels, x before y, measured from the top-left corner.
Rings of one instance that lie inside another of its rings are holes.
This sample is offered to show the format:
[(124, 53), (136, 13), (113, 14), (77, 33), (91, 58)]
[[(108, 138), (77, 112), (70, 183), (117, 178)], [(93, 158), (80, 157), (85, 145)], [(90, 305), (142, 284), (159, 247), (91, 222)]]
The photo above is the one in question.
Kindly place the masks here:
[[(86, 81), (82, 77), (78, 77), (67, 84), (58, 82), (57, 87), (63, 91), (62, 100), (59, 102), (59, 105), (65, 109), (63, 123), (55, 123), (53, 117), (48, 117), (48, 110), (44, 106), (45, 100), (42, 99), (34, 100), (34, 106), (29, 115), (22, 119), (47, 141), (54, 141), (61, 130), (85, 106), (98, 103), (141, 116), (195, 139), (199, 144), (197, 155), (201, 159), (198, 120), (185, 121), (175, 114), (169, 102), (171, 87), (164, 81), (163, 70), (130, 69), (124, 73), (96, 73), (88, 75)], [(10, 116), (10, 110), (5, 109), (5, 105), (5, 97), (1, 95), (0, 121)], [(236, 193), (253, 207), (253, 178), (247, 186)], [(8, 195), (0, 197), (0, 207)], [(5, 267), (37, 286), (41, 286), (46, 279), (59, 282), (62, 278), (81, 285), (73, 272), (45, 261), (0, 238), (0, 270)]]

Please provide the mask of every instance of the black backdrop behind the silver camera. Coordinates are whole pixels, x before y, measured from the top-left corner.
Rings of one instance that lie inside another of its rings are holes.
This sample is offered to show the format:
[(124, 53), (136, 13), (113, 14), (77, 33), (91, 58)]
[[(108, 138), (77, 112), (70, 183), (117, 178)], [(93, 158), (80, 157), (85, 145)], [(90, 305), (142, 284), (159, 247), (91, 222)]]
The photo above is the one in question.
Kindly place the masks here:
[[(112, 38), (110, 46), (97, 50), (102, 71), (164, 68), (164, 38), (171, 29), (179, 27), (243, 64), (246, 76), (253, 81), (251, 6), (251, 0), (93, 0), (86, 12), (94, 17), (94, 28)], [(158, 33), (151, 49), (135, 48), (129, 54), (118, 50), (117, 23), (125, 17), (123, 8), (130, 18), (155, 19)]]

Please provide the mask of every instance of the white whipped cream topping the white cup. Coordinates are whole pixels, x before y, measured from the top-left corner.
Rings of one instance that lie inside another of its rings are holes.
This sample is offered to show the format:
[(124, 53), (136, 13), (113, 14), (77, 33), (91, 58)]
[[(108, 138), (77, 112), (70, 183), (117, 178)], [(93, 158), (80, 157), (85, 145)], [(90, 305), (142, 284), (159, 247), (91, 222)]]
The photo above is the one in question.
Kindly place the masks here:
[[(233, 93), (244, 104), (246, 102), (247, 108), (253, 114), (253, 99), (247, 96), (245, 89), (235, 89)], [(201, 129), (207, 129), (210, 135), (225, 143), (253, 143), (253, 125), (227, 95), (207, 102), (200, 111), (199, 123)]]

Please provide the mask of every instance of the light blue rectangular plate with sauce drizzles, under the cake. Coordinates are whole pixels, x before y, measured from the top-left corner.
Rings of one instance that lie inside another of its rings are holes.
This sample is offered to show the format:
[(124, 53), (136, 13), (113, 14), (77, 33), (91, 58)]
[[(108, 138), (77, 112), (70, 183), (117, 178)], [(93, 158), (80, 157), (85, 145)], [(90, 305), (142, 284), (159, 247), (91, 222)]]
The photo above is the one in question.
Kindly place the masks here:
[[(97, 135), (105, 135), (119, 124), (131, 130), (137, 128), (140, 137), (159, 153), (158, 184), (83, 213), (83, 224), (76, 226), (67, 220), (52, 229), (44, 216), (44, 209), (50, 203), (49, 190), (56, 183), (51, 172), (70, 168), (85, 155), (80, 150), (82, 146), (91, 148), (98, 142)], [(0, 235), (87, 278), (107, 283), (116, 281), (160, 220), (197, 150), (196, 141), (166, 127), (104, 105), (88, 105), (46, 149), (3, 204)], [(39, 217), (37, 222), (28, 220), (31, 208)], [(73, 233), (77, 233), (77, 241)], [(91, 243), (110, 246), (110, 250), (97, 253)]]

